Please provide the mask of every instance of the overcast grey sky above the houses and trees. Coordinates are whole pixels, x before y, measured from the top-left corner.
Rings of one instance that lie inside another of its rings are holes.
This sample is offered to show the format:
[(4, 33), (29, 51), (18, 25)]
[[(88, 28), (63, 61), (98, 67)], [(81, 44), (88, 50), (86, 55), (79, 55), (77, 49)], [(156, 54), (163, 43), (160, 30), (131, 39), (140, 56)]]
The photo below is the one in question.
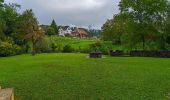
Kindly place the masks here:
[(103, 23), (119, 12), (120, 0), (5, 0), (21, 5), (21, 11), (33, 9), (40, 24), (100, 28)]

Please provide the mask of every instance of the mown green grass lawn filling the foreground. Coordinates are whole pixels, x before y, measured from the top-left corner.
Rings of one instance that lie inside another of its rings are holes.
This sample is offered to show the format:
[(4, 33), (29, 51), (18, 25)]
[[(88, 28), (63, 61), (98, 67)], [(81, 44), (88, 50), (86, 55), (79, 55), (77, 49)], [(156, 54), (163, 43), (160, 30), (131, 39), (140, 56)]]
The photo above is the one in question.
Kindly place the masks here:
[(40, 54), (0, 58), (0, 85), (16, 100), (166, 100), (170, 59)]

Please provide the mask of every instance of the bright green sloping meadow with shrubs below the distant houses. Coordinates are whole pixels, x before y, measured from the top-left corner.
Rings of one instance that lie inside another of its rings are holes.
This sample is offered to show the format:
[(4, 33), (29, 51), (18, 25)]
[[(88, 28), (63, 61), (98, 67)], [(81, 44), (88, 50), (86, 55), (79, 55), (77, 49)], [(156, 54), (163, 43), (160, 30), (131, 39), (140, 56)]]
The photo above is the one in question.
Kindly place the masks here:
[[(69, 45), (74, 52), (89, 53), (94, 51), (92, 45), (98, 45), (97, 51), (108, 54), (109, 50), (122, 50), (121, 45), (114, 45), (112, 41), (73, 39), (67, 37), (45, 37), (51, 46), (51, 52), (63, 52), (66, 45)], [(99, 46), (100, 45), (100, 46)], [(98, 48), (99, 47), (99, 48)]]

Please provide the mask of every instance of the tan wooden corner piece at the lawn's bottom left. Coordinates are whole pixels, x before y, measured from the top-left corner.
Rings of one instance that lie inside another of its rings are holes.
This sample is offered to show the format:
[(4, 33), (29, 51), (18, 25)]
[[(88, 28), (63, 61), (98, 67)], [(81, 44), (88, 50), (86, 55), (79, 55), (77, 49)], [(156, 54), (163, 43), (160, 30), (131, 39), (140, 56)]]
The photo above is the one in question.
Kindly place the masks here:
[(1, 89), (0, 87), (0, 100), (14, 100), (14, 91), (12, 88)]

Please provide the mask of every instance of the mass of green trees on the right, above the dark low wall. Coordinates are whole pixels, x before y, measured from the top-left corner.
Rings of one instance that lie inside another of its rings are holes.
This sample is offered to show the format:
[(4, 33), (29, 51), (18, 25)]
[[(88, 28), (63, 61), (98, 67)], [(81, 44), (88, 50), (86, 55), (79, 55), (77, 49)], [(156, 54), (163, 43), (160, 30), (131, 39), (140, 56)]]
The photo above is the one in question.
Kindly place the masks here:
[(170, 50), (170, 2), (121, 0), (120, 12), (102, 27), (102, 38), (128, 49)]

